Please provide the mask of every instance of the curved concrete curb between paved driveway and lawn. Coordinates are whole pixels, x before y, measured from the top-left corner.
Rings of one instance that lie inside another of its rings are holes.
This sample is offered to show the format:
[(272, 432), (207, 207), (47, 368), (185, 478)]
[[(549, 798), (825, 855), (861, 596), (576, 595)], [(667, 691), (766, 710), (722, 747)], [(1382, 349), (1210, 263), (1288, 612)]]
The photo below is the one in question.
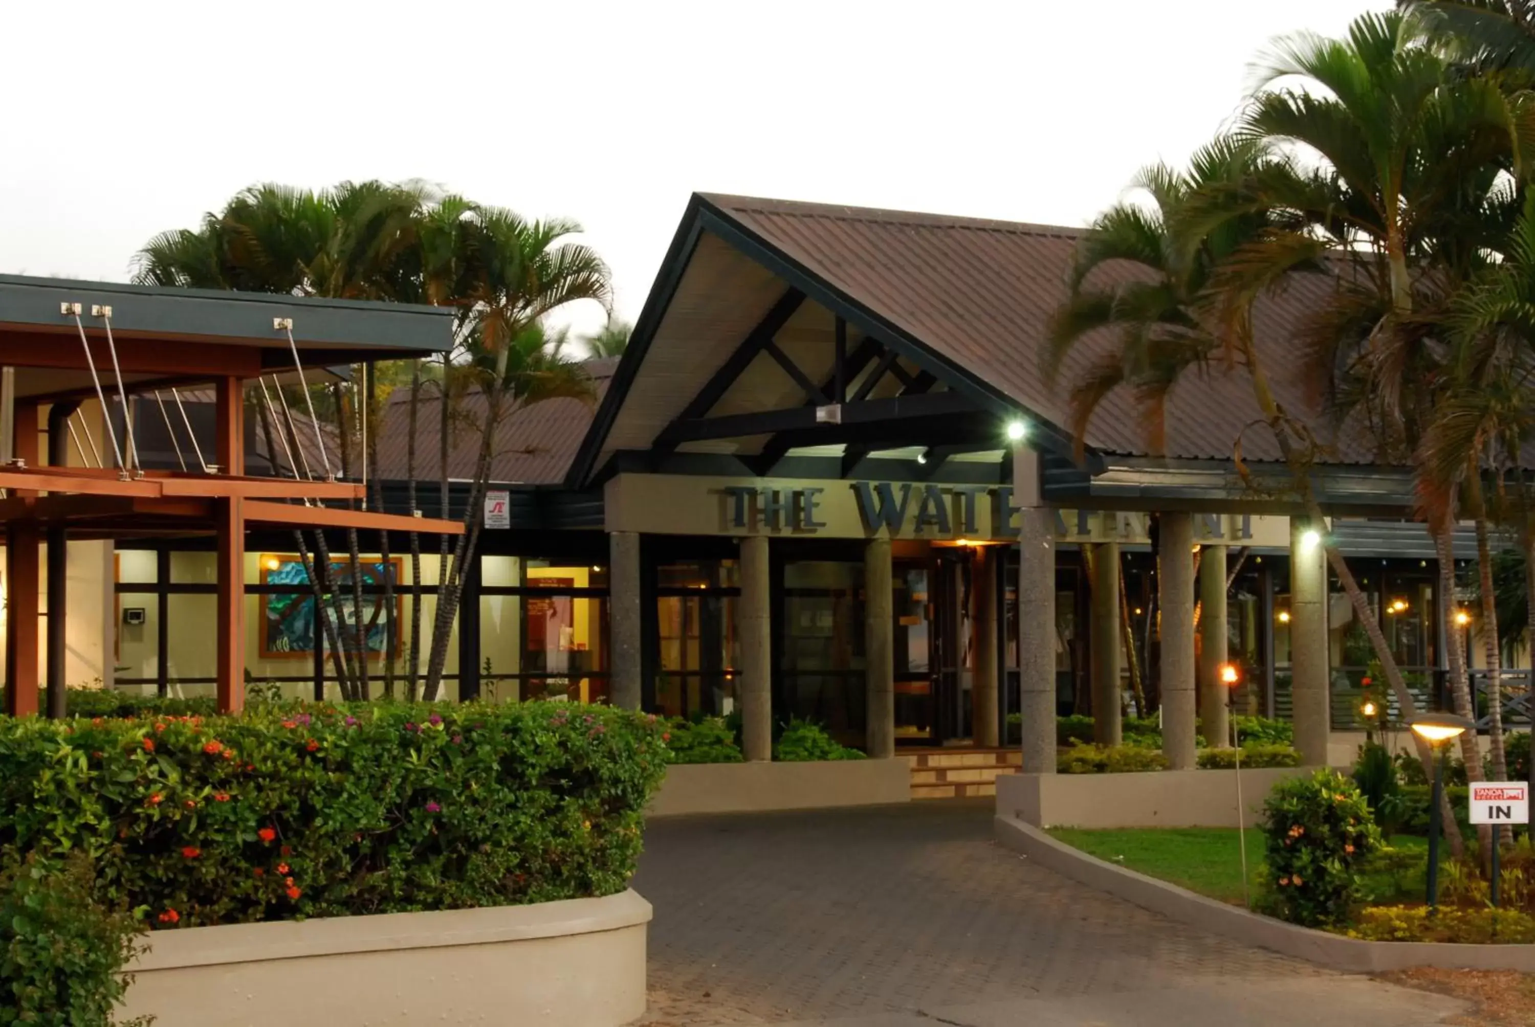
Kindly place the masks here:
[(1015, 817), (999, 815), (993, 824), (996, 840), (1001, 844), (1062, 877), (1213, 935), (1246, 946), (1271, 949), (1280, 955), (1306, 959), (1332, 970), (1380, 973), (1411, 967), (1443, 967), (1448, 970), (1535, 972), (1535, 946), (1461, 946), (1343, 938), (1325, 930), (1311, 930), (1260, 916), (1145, 873), (1105, 863), (1081, 849), (1056, 841), (1039, 827), (1025, 824)]

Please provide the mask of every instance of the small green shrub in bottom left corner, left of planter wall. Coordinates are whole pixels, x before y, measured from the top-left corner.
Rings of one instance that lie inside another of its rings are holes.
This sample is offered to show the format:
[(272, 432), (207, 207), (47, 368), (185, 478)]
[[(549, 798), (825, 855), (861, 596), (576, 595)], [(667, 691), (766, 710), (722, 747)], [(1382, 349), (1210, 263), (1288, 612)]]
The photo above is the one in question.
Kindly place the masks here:
[[(92, 900), (91, 861), (0, 869), (0, 1024), (107, 1027), (143, 926)], [(147, 1021), (132, 1021), (144, 1024)]]

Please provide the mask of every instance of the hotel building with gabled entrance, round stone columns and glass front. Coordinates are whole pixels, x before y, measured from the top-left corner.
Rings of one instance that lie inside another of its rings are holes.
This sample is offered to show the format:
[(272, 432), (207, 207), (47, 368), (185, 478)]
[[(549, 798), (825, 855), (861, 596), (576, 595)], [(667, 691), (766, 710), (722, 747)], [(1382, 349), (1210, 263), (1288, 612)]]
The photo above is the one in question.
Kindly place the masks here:
[[(1133, 682), (1160, 689), (1167, 731), (1187, 734), (1191, 754), (1196, 711), (1207, 732), (1223, 723), (1214, 668), (1230, 659), (1243, 668), (1237, 711), (1294, 718), (1299, 748), (1322, 761), (1329, 728), (1352, 726), (1369, 660), (1328, 583), (1315, 533), (1329, 531), (1432, 705), (1446, 665), (1438, 611), (1454, 597), (1423, 527), (1406, 520), (1405, 468), (1337, 441), (1335, 462), (1315, 470), (1329, 522), (1305, 523), (1273, 444), (1248, 430), (1246, 379), (1220, 373), (1173, 395), (1164, 456), (1119, 393), (1078, 451), (1068, 393), (1101, 353), (1074, 358), (1058, 384), (1041, 370), (1076, 239), (695, 195), (629, 350), (589, 365), (596, 408), (550, 401), (502, 427), (491, 488), (507, 493), (505, 527), (480, 533), (448, 697), (740, 717), (748, 758), (768, 757), (775, 722), (809, 718), (870, 755), (1022, 740), (1028, 763), (1053, 751), (1058, 714), (1099, 714), (1101, 737), (1117, 738)], [(1297, 289), (1263, 310), (1276, 367), (1305, 302)], [(1296, 384), (1279, 387), (1305, 405)], [(172, 467), (189, 436), (161, 425), (154, 402), (129, 399), (144, 465)], [(373, 468), (390, 514), (411, 513), (405, 402), (404, 390), (393, 398)], [(428, 517), (444, 513), (425, 428), (434, 404), (421, 411), (416, 505)], [(46, 408), (38, 424), (48, 447)], [(1239, 438), (1256, 485), (1234, 474)], [(468, 447), (450, 447), (448, 519), (464, 514)], [(247, 468), (262, 461), (287, 471), (252, 436)], [(388, 557), (378, 531), (362, 539), (365, 606), (382, 605), (391, 576), (401, 625), (370, 628), (378, 694), (391, 654), (399, 674), (411, 570), (402, 530)], [(71, 593), (71, 682), (212, 689), (210, 539), (121, 536), (89, 559), (71, 553), (81, 580), (111, 596), (77, 614), (89, 602)], [(339, 536), (332, 553), (345, 553)], [(424, 539), (428, 634), (437, 553)], [(296, 559), (289, 531), (247, 536), (247, 677), (333, 694)]]

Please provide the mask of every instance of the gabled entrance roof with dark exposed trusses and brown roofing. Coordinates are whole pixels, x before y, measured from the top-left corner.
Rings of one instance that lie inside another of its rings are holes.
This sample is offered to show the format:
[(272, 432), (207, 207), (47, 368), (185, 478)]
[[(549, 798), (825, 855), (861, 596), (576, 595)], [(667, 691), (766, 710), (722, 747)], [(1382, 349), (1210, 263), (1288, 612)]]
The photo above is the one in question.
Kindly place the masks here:
[[(1297, 513), (1239, 368), (1205, 368), (1173, 391), (1156, 454), (1131, 390), (1111, 391), (1078, 456), (1071, 388), (1117, 344), (1090, 339), (1055, 382), (1042, 370), (1081, 235), (697, 193), (566, 485), (625, 471), (850, 477), (870, 473), (870, 456), (881, 476), (904, 461), (903, 476), (933, 477), (958, 457), (972, 476), (989, 464), (1005, 480), (1005, 427), (1021, 419), (1051, 505)], [(1257, 341), (1286, 408), (1315, 408), (1294, 339), (1331, 287), (1299, 278), (1260, 304)], [(1239, 439), (1259, 488), (1234, 473)], [(1328, 513), (1411, 508), (1406, 470), (1377, 465), (1366, 433), (1323, 442), (1312, 474)]]

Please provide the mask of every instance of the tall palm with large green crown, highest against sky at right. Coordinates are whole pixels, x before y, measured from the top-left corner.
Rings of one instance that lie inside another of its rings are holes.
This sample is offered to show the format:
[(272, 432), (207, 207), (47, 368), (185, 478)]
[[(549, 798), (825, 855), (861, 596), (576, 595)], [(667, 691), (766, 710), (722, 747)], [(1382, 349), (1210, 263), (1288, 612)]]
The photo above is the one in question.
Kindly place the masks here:
[[(1454, 282), (1497, 238), (1489, 212), (1521, 154), (1517, 103), (1494, 81), (1449, 71), (1418, 20), (1362, 15), (1343, 40), (1282, 40), (1236, 129), (1271, 157), (1242, 186), (1271, 226), (1214, 278), (1219, 316), (1243, 330), (1256, 296), (1326, 261), (1334, 296), (1311, 318), (1303, 342), (1334, 408), (1371, 428), (1388, 457), (1411, 456), (1431, 422), (1446, 353), (1435, 325)], [(1220, 216), (1219, 206), (1213, 213)], [(1457, 496), (1451, 490), (1440, 499), (1428, 514), (1441, 593), (1452, 596)], [(1385, 639), (1375, 639), (1363, 593), (1342, 556), (1329, 550), (1329, 560), (1380, 655)], [(1464, 654), (1458, 632), (1451, 637), (1455, 702), (1469, 715)], [(1382, 662), (1395, 691), (1397, 668)], [(1463, 738), (1474, 775), (1475, 745)]]

